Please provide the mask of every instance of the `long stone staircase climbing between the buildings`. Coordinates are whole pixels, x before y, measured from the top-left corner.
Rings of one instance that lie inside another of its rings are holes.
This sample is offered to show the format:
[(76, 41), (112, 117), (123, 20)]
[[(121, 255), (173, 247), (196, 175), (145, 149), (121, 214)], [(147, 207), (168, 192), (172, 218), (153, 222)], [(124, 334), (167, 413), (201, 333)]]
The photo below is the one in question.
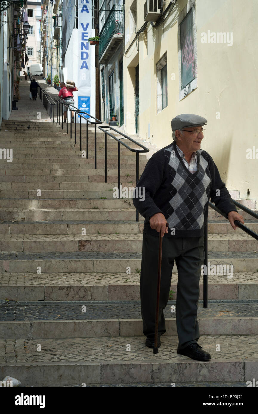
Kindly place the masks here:
[[(47, 120), (42, 104), (41, 111)], [(107, 137), (105, 183), (102, 132), (95, 170), (92, 128), (85, 159), (58, 124), (24, 119), (15, 113), (0, 131), (1, 148), (13, 149), (12, 162), (0, 160), (0, 379), (11, 375), (22, 387), (246, 387), (257, 380), (257, 241), (209, 211), (208, 261), (234, 266), (232, 277), (208, 276), (207, 309), (201, 278), (199, 342), (212, 360), (176, 353), (176, 294), (154, 355), (140, 307), (144, 219), (136, 222), (131, 199), (113, 197), (117, 143)], [(85, 126), (83, 136), (84, 149)], [(140, 155), (140, 174), (154, 152)], [(136, 184), (135, 171), (135, 154), (122, 149), (123, 186)], [(257, 221), (241, 214), (258, 232)]]

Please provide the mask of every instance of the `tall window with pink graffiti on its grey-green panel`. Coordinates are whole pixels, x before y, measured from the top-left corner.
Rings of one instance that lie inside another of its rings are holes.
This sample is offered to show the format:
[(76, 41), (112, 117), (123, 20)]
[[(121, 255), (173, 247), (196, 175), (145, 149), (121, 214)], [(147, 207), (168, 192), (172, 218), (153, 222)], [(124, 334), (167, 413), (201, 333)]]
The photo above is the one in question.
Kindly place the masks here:
[(195, 79), (195, 52), (192, 9), (180, 24), (182, 89)]

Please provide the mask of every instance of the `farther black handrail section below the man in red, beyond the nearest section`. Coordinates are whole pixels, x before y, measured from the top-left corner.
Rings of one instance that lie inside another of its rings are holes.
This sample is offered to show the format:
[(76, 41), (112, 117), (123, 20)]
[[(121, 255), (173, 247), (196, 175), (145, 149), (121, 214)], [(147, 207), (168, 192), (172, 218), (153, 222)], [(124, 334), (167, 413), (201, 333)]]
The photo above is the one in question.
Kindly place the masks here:
[[(102, 121), (100, 121), (99, 119), (95, 118), (95, 116), (90, 115), (90, 113), (85, 112), (85, 111), (81, 111), (79, 108), (77, 108), (76, 106), (72, 105), (71, 103), (66, 104), (64, 103), (65, 101), (63, 101), (63, 99), (58, 100), (57, 98), (55, 98), (55, 101), (59, 103), (59, 125), (60, 125), (60, 103), (62, 105), (62, 129), (63, 129), (63, 105), (66, 106), (66, 108), (69, 109), (70, 111), (70, 138), (72, 138), (72, 111), (75, 112), (75, 127), (74, 127), (74, 132), (75, 132), (75, 144), (76, 144), (76, 114), (78, 114), (78, 116), (80, 117), (80, 151), (82, 149), (82, 134), (81, 134), (81, 121), (83, 119), (86, 120), (87, 122), (87, 132), (86, 132), (86, 158), (88, 159), (88, 123), (90, 124), (94, 124), (94, 142), (95, 142), (95, 170), (97, 169), (97, 129), (96, 129), (96, 125), (97, 124), (102, 124)], [(73, 109), (69, 108), (70, 106), (73, 107)], [(90, 118), (94, 118), (95, 121), (90, 121), (88, 118), (86, 118), (85, 116), (83, 116), (82, 114), (88, 115)], [(56, 105), (56, 121), (58, 122), (58, 105)], [(66, 133), (68, 134), (68, 123), (66, 122)]]

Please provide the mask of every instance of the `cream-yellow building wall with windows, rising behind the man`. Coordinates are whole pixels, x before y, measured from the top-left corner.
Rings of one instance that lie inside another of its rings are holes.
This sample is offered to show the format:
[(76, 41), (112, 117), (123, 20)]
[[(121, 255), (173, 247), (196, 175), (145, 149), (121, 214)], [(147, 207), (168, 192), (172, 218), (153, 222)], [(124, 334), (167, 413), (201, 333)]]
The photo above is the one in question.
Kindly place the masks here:
[(124, 130), (162, 148), (172, 141), (174, 116), (204, 116), (202, 148), (222, 180), (241, 198), (257, 199), (251, 120), (258, 107), (258, 45), (246, 27), (256, 31), (258, 3), (242, 6), (240, 0), (125, 1)]

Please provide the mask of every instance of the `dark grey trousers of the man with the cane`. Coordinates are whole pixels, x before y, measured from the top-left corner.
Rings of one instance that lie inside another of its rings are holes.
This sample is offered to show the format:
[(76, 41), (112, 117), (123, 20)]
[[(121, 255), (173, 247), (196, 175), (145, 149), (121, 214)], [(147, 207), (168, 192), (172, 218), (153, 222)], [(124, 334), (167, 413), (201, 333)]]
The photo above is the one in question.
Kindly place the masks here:
[[(141, 258), (141, 316), (144, 335), (154, 335), (158, 280), (159, 237), (143, 234)], [(158, 333), (166, 332), (163, 309), (168, 303), (174, 260), (178, 269), (176, 326), (178, 349), (197, 342), (200, 337), (197, 321), (199, 282), (204, 261), (204, 236), (186, 238), (163, 237), (161, 290)]]

